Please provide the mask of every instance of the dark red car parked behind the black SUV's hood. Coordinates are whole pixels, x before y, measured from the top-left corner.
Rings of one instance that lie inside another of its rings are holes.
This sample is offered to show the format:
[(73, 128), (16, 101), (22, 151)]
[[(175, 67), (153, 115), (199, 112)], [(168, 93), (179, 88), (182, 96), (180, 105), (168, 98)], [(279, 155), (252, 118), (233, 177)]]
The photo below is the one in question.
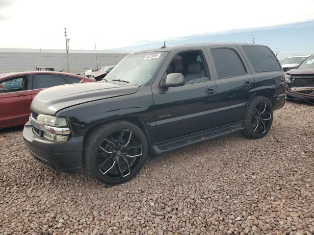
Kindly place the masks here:
[(24, 125), (31, 113), (30, 103), (41, 90), (79, 82), (96, 81), (71, 73), (54, 71), (0, 74), (0, 129)]

